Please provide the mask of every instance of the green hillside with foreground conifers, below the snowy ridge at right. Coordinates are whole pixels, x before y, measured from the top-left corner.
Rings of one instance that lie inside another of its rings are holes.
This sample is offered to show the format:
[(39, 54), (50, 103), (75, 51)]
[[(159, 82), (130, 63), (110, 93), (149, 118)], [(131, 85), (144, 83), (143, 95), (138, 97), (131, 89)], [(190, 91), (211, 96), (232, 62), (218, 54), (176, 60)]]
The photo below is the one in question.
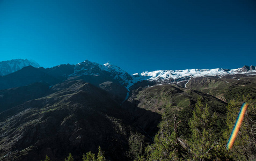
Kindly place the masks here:
[[(190, 80), (188, 89), (160, 85), (140, 91), (138, 107), (161, 113), (162, 121), (137, 160), (255, 160), (255, 78), (202, 77)], [(228, 150), (243, 103), (248, 104), (245, 118)]]

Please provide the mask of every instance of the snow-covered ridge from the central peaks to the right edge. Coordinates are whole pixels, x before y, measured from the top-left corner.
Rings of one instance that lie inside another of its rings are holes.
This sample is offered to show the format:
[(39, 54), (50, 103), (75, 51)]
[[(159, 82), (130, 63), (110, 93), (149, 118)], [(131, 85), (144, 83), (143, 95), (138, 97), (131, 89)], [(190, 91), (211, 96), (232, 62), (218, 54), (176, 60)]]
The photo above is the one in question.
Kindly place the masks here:
[[(202, 77), (202, 76), (220, 76), (220, 75), (235, 75), (235, 74), (252, 74), (256, 75), (256, 70), (254, 66), (248, 67), (244, 66), (243, 68), (238, 69), (186, 69), (186, 70), (156, 70), (156, 71), (144, 71), (141, 74), (128, 74), (127, 71), (117, 67), (110, 62), (105, 63), (104, 65), (90, 62), (88, 60), (78, 63), (75, 66), (74, 74), (69, 75), (73, 76), (83, 76), (83, 75), (104, 75), (109, 76), (111, 79), (118, 81), (120, 84), (126, 87), (127, 97), (129, 97), (130, 87), (141, 82), (146, 81), (155, 81), (162, 83), (177, 83), (181, 81), (188, 81), (192, 77)], [(125, 99), (125, 100), (126, 100)], [(124, 100), (124, 101), (125, 101)]]

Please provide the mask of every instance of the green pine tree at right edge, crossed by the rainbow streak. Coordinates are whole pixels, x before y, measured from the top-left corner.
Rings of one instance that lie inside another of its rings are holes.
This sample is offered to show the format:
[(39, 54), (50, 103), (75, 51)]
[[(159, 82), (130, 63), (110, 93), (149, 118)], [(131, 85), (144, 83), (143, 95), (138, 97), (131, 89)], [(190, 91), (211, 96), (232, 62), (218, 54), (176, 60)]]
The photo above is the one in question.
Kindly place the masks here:
[(240, 108), (246, 102), (248, 104), (244, 120), (236, 136), (232, 148), (229, 150), (231, 156), (237, 160), (255, 160), (256, 159), (256, 106), (255, 100), (250, 96), (231, 100), (227, 107), (226, 125), (228, 129), (224, 132), (224, 138), (228, 142)]

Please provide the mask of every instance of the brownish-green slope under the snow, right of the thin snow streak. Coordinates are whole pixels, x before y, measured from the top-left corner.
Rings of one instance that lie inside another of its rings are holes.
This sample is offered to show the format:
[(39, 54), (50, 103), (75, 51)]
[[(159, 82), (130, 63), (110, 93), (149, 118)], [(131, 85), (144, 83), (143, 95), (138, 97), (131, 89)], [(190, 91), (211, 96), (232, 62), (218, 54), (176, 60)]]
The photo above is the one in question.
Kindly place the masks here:
[(256, 98), (256, 76), (237, 74), (222, 77), (196, 77), (186, 84), (187, 89), (201, 91), (225, 102), (236, 96), (250, 94)]

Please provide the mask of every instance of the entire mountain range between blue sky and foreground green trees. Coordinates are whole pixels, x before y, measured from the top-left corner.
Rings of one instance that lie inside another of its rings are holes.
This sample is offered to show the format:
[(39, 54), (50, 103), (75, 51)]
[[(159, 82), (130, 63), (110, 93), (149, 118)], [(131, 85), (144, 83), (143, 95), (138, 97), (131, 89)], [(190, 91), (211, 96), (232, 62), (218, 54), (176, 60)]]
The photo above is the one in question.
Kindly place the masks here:
[[(164, 113), (192, 117), (202, 98), (224, 116), (236, 94), (256, 98), (253, 65), (130, 75), (88, 60), (52, 68), (28, 60), (0, 64), (0, 160), (64, 160), (69, 152), (81, 160), (98, 146), (109, 160), (133, 160), (152, 143)], [(189, 136), (188, 121), (181, 126)]]

